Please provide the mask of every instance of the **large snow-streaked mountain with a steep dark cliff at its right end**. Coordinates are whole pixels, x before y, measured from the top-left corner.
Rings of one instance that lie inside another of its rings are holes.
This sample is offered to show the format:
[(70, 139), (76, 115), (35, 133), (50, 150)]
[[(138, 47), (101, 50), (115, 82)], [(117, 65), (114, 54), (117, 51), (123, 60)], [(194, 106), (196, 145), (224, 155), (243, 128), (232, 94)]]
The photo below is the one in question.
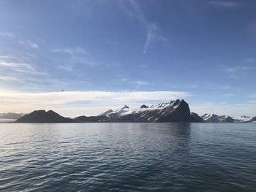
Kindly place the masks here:
[[(104, 113), (102, 113), (104, 114)], [(153, 104), (151, 107), (142, 106), (131, 110), (127, 105), (121, 109), (109, 112), (108, 115), (80, 116), (78, 122), (202, 122), (198, 116), (190, 115), (189, 105), (184, 100), (175, 100), (167, 103)]]

